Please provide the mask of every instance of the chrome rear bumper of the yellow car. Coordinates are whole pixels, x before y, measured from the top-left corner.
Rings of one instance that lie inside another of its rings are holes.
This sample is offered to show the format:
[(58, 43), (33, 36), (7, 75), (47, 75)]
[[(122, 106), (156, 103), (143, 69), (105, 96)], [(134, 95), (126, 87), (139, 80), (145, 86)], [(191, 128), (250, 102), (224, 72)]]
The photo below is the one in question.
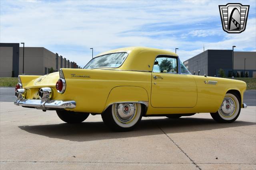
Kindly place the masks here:
[(61, 101), (61, 100), (35, 100), (35, 99), (17, 99), (14, 105), (24, 107), (34, 107), (43, 110), (58, 110), (58, 109), (74, 109), (76, 107), (75, 101)]

